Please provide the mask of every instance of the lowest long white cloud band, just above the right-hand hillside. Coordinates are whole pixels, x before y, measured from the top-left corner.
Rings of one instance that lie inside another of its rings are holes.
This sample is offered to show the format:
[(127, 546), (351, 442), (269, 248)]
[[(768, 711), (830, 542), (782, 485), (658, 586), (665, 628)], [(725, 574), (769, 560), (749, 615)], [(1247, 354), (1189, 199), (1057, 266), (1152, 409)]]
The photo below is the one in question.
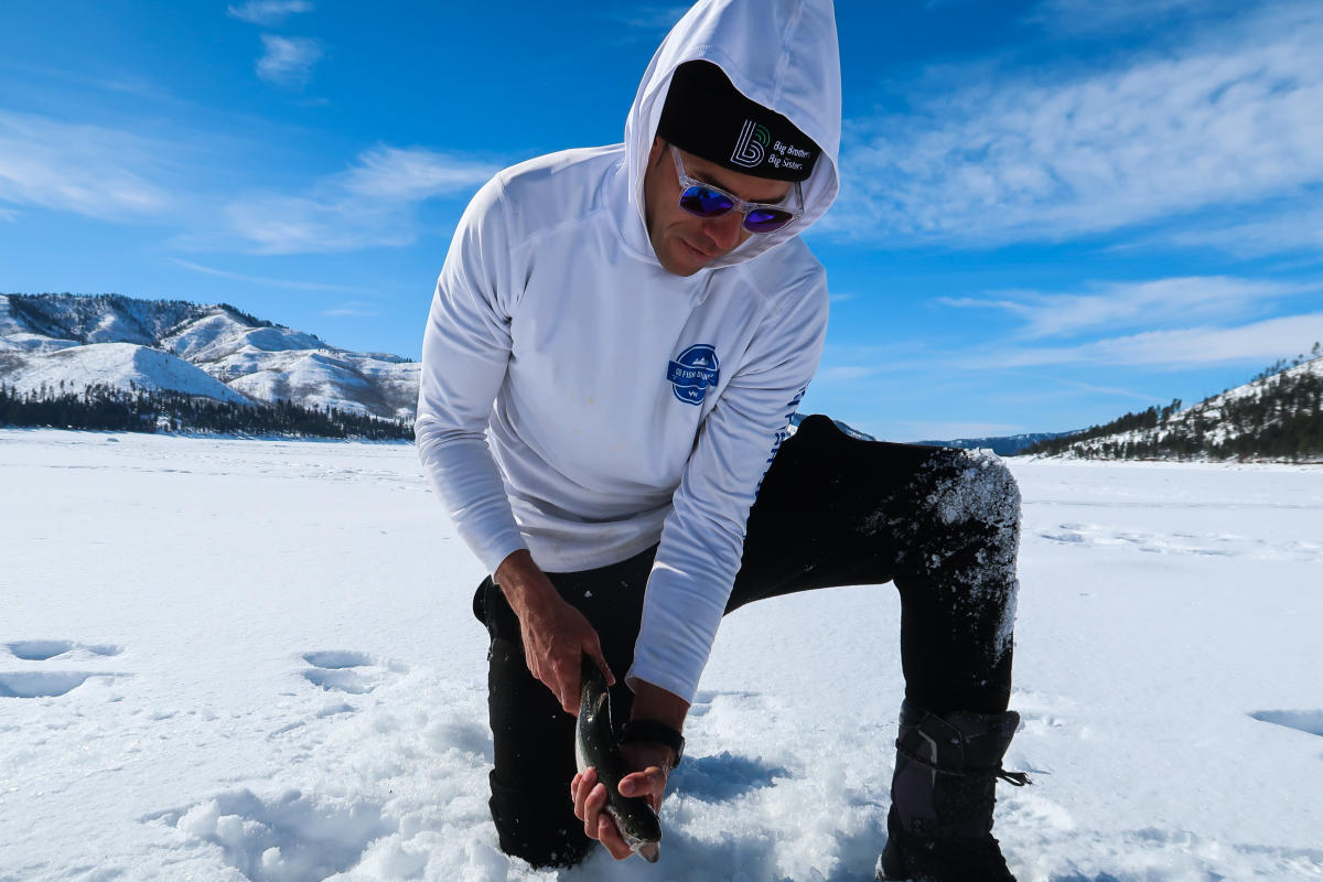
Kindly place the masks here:
[(1066, 365), (1180, 370), (1205, 365), (1269, 364), (1308, 352), (1323, 340), (1323, 312), (1267, 319), (1236, 328), (1151, 331), (1073, 346), (1020, 346), (970, 357), (967, 369)]

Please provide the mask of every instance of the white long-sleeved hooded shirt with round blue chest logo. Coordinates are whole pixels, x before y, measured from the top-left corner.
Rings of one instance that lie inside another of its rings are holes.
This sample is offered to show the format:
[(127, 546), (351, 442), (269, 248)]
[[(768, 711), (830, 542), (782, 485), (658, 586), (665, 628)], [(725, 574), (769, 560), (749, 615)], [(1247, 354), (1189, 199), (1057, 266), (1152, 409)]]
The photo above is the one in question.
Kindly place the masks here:
[[(671, 75), (717, 63), (820, 148), (804, 214), (697, 274), (665, 271), (643, 176)], [(831, 0), (701, 0), (643, 77), (626, 141), (500, 172), (437, 283), (414, 424), (427, 477), (488, 571), (548, 573), (659, 543), (642, 680), (693, 701), (758, 484), (822, 353), (826, 274), (799, 239), (837, 189)]]

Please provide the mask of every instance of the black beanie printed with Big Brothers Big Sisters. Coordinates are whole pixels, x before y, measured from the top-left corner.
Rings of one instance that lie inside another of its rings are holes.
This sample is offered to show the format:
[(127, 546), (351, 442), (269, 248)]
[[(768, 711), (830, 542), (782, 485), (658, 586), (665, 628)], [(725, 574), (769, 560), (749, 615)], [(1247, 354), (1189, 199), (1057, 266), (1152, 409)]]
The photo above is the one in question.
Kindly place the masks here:
[(789, 119), (745, 98), (709, 61), (675, 69), (658, 135), (732, 172), (803, 181), (822, 149)]

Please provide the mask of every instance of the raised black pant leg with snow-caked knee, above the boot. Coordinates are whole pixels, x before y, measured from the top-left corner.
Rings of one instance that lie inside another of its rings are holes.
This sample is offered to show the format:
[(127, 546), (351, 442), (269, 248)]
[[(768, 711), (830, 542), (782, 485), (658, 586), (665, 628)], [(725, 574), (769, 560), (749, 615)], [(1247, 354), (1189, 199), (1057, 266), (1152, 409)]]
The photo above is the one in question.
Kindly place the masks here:
[(1000, 713), (1011, 694), (1020, 496), (1000, 460), (851, 438), (810, 417), (749, 513), (726, 611), (894, 581), (906, 697)]

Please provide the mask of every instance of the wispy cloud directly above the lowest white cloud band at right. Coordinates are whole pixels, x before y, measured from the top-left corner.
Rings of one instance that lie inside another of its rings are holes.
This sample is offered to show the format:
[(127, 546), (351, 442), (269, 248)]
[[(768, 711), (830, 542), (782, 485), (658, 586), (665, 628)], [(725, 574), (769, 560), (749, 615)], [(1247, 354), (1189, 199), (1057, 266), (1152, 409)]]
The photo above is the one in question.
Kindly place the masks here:
[(941, 298), (939, 303), (1011, 313), (1023, 320), (1024, 337), (1041, 339), (1244, 319), (1283, 298), (1319, 291), (1323, 286), (1192, 276), (1095, 283), (1086, 292), (1009, 291), (988, 298)]

